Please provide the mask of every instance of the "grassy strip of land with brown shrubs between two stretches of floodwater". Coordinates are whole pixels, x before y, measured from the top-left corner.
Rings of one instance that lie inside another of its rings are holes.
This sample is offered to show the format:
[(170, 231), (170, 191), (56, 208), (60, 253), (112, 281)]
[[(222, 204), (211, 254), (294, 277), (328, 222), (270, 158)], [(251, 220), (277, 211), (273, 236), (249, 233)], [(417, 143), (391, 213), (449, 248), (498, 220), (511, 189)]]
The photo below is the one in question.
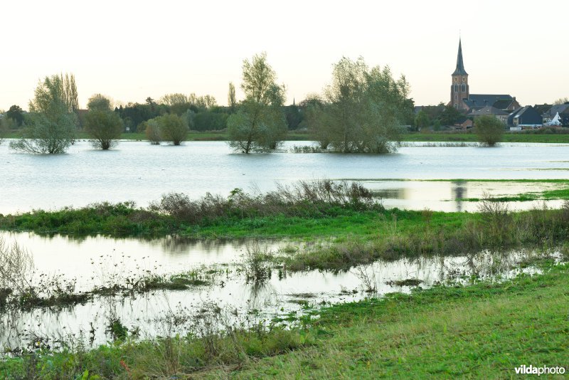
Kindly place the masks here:
[[(186, 206), (196, 211), (193, 207), (196, 204)], [(469, 250), (527, 245), (555, 246), (569, 240), (569, 204), (562, 209), (509, 212), (505, 204), (486, 200), (478, 213), (385, 210), (374, 204), (312, 204), (312, 207), (297, 204), (267, 208), (262, 216), (252, 216), (260, 212), (257, 207), (248, 212), (235, 209), (243, 215), (235, 212), (219, 215), (216, 204), (212, 218), (186, 214), (190, 212), (186, 206), (181, 209), (184, 212), (173, 210), (167, 215), (125, 204), (54, 213), (42, 211), (1, 217), (0, 228), (111, 236), (161, 231), (191, 238), (273, 237), (317, 241), (309, 248), (283, 250), (273, 255), (273, 260), (287, 270), (347, 270), (378, 259), (458, 255)], [(271, 216), (270, 212), (275, 213)]]

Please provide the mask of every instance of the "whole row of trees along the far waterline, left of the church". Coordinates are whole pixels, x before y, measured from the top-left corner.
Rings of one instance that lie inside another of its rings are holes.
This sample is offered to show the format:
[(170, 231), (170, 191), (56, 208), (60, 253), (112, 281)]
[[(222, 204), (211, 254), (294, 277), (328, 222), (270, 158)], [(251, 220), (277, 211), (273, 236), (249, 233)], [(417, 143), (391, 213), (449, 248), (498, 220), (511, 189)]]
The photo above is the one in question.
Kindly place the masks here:
[(243, 60), (238, 100), (228, 85), (228, 105), (211, 95), (167, 94), (144, 104), (115, 106), (110, 97), (92, 95), (87, 110), (78, 109), (75, 77), (44, 78), (29, 103), (29, 112), (14, 105), (1, 119), (4, 129), (23, 128), (12, 149), (61, 153), (73, 144), (75, 133), (90, 134), (94, 147), (110, 149), (122, 132), (144, 132), (152, 144), (181, 144), (189, 130), (226, 130), (236, 152), (271, 152), (289, 130), (309, 130), (322, 149), (344, 153), (393, 152), (405, 126), (413, 124), (413, 100), (405, 77), (393, 78), (388, 67), (368, 68), (363, 58), (342, 58), (334, 64), (330, 85), (299, 105), (285, 106), (285, 85), (266, 53)]

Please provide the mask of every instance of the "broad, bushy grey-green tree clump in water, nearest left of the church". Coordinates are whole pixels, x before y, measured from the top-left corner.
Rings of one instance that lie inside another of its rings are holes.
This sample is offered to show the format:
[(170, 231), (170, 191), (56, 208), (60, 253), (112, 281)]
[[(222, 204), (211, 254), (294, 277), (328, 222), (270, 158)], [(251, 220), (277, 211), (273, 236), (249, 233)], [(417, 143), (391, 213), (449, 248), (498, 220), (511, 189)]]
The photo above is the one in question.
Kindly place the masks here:
[(342, 58), (334, 65), (324, 104), (312, 107), (312, 125), (319, 140), (337, 152), (394, 152), (408, 114), (408, 93), (405, 77), (394, 80), (388, 67), (370, 70), (363, 58)]

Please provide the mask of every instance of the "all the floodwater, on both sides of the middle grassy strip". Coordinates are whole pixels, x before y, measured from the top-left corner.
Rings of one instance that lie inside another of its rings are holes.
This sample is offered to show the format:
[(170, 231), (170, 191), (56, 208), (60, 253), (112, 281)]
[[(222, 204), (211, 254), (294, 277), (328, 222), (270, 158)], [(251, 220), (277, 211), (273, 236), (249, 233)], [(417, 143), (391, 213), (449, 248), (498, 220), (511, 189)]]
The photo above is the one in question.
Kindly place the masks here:
[[(495, 149), (417, 144), (387, 155), (285, 152), (294, 145), (307, 144), (311, 143), (286, 142), (283, 152), (245, 155), (233, 154), (224, 142), (186, 142), (182, 147), (121, 142), (110, 152), (78, 142), (68, 154), (49, 156), (12, 152), (5, 142), (0, 146), (0, 213), (79, 207), (97, 201), (135, 201), (139, 206), (147, 206), (170, 191), (197, 198), (206, 191), (227, 195), (237, 187), (269, 191), (277, 183), (289, 184), (299, 179), (361, 181), (381, 196), (387, 207), (470, 211), (477, 204), (464, 199), (481, 198), (486, 192), (511, 196), (555, 189), (558, 185), (459, 179), (567, 179), (569, 174), (569, 161), (563, 161), (568, 144), (503, 144)], [(450, 181), (432, 181), (435, 179)], [(514, 202), (512, 208), (527, 209), (539, 204)], [(75, 334), (87, 344), (102, 344), (110, 339), (105, 326), (115, 317), (131, 331), (139, 329), (141, 337), (186, 332), (191, 330), (187, 323), (177, 325), (176, 331), (165, 331), (172, 328), (166, 321), (176, 315), (192, 315), (211, 304), (235, 310), (230, 315), (236, 319), (254, 316), (266, 322), (275, 315), (302, 313), (306, 302), (321, 305), (361, 300), (369, 295), (364, 284), (370, 281), (377, 285), (376, 294), (383, 295), (409, 292), (410, 287), (391, 283), (409, 278), (421, 280), (421, 286), (429, 287), (472, 276), (488, 278), (499, 273), (509, 277), (519, 273), (519, 269), (513, 269), (515, 263), (534, 254), (482, 252), (378, 261), (345, 273), (287, 273), (273, 268), (270, 279), (253, 284), (243, 273), (243, 253), (250, 241), (68, 238), (6, 232), (0, 233), (0, 237), (8, 244), (17, 241), (33, 255), (34, 281), (63, 279), (63, 283), (74, 283), (77, 291), (146, 273), (166, 275), (213, 268), (209, 285), (188, 290), (101, 296), (63, 310), (1, 312), (0, 347), (10, 349), (37, 342), (36, 334), (53, 341)], [(258, 243), (267, 250), (299, 245), (288, 241)]]

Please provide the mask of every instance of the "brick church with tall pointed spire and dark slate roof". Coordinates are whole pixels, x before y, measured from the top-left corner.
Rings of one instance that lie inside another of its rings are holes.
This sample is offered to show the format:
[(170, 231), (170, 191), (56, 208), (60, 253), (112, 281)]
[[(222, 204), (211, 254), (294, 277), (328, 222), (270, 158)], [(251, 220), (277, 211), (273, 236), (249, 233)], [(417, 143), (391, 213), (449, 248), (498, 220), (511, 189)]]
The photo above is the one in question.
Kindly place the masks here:
[(504, 94), (471, 94), (468, 85), (468, 73), (462, 60), (462, 41), (459, 39), (457, 68), (452, 73), (450, 102), (448, 105), (461, 110), (468, 116), (508, 115), (519, 109), (516, 97)]

